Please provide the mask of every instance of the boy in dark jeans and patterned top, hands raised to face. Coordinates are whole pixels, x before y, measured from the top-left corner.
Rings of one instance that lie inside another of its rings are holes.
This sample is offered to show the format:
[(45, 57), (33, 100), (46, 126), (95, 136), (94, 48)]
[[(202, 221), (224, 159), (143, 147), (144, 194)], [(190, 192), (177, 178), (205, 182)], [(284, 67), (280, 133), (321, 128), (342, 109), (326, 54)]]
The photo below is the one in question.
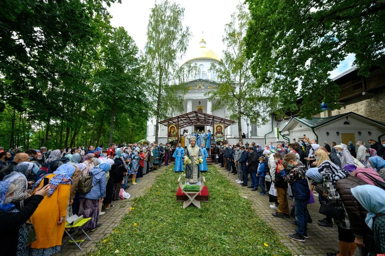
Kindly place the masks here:
[[(290, 145), (289, 145), (290, 147)], [(309, 181), (306, 177), (306, 167), (302, 163), (298, 163), (294, 154), (287, 154), (278, 164), (280, 175), (283, 180), (290, 182), (294, 188), (295, 218), (297, 220), (297, 230), (294, 234), (289, 235), (290, 239), (305, 242), (308, 238), (308, 209), (307, 204), (310, 199)]]

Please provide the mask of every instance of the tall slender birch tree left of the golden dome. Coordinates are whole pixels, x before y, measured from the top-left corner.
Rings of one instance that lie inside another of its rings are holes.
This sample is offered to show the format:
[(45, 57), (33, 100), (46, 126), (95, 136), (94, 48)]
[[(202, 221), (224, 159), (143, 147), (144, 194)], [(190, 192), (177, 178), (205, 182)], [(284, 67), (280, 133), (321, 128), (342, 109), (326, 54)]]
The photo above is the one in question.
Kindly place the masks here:
[(147, 26), (145, 76), (149, 98), (154, 99), (155, 141), (158, 139), (159, 120), (183, 111), (185, 88), (177, 60), (186, 52), (191, 36), (189, 28), (183, 28), (183, 17), (184, 8), (164, 1), (151, 9)]

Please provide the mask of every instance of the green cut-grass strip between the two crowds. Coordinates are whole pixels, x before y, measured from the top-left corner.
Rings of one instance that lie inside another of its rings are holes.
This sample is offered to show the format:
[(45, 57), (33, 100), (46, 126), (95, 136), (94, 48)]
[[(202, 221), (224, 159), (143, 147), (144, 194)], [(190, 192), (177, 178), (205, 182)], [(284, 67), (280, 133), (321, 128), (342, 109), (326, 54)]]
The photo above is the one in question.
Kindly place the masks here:
[(216, 167), (202, 173), (210, 202), (201, 202), (201, 209), (176, 202), (179, 175), (173, 166), (166, 169), (90, 254), (291, 255)]

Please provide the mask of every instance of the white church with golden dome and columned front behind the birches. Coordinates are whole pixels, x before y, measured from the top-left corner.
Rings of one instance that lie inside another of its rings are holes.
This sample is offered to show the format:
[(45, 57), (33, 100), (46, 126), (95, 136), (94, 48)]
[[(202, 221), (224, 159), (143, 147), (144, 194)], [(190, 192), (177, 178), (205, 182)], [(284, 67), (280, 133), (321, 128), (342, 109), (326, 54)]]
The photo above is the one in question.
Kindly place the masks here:
[[(212, 111), (211, 107), (215, 103), (215, 100), (211, 102), (208, 100), (208, 97), (205, 94), (211, 90), (216, 90), (218, 85), (218, 77), (215, 70), (212, 70), (212, 65), (219, 67), (220, 57), (213, 50), (209, 49), (206, 46), (206, 41), (203, 39), (199, 42), (199, 47), (197, 47), (195, 55), (192, 59), (187, 60), (182, 67), (186, 65), (191, 65), (198, 67), (198, 70), (195, 74), (186, 74), (184, 80), (186, 81), (186, 87), (188, 89), (186, 95), (184, 95), (184, 112), (177, 113), (176, 115), (181, 115), (191, 111), (204, 112), (210, 115), (215, 115), (218, 117), (229, 119), (229, 111), (224, 108), (216, 111)], [(271, 120), (271, 117), (270, 117)], [(246, 135), (246, 141), (254, 141), (256, 143), (264, 143), (265, 135), (266, 139), (276, 141), (276, 125), (273, 125), (272, 122), (269, 122), (266, 125), (258, 127), (257, 124), (249, 124), (247, 120), (242, 120), (242, 132)], [(147, 122), (147, 140), (152, 142), (155, 140), (155, 118), (148, 120)], [(275, 126), (275, 128), (274, 128)], [(194, 132), (194, 130), (205, 132), (210, 129), (213, 133), (213, 127), (205, 126), (203, 124), (196, 124), (190, 127), (184, 127), (179, 129), (179, 134), (183, 132), (184, 129), (188, 129), (189, 133)], [(233, 124), (227, 127), (224, 131), (225, 137), (229, 143), (238, 142), (238, 124)], [(271, 138), (271, 139), (270, 139)], [(165, 143), (167, 141), (167, 127), (165, 125), (159, 124), (159, 134), (158, 142)]]

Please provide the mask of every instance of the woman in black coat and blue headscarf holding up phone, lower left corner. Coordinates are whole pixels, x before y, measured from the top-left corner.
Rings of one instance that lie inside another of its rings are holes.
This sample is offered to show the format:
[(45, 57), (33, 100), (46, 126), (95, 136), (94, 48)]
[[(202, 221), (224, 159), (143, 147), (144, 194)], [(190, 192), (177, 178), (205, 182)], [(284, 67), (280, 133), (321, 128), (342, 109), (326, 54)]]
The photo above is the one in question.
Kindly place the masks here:
[(0, 246), (3, 255), (26, 254), (25, 245), (28, 230), (25, 222), (32, 216), (44, 196), (49, 192), (49, 186), (39, 188), (33, 196), (23, 200), (23, 208), (19, 202), (11, 202), (17, 186), (9, 181), (0, 181)]

